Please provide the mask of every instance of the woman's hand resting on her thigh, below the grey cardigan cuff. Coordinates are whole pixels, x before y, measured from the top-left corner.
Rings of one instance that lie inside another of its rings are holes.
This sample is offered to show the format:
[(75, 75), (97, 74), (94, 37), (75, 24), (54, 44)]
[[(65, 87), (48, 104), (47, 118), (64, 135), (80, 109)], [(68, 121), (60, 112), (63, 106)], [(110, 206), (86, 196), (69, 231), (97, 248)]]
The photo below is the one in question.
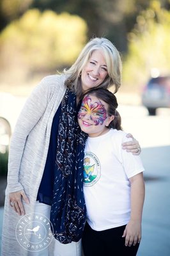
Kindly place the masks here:
[(10, 206), (14, 209), (14, 211), (17, 212), (19, 215), (24, 215), (25, 211), (22, 200), (29, 204), (29, 199), (27, 198), (24, 190), (10, 193), (9, 199)]

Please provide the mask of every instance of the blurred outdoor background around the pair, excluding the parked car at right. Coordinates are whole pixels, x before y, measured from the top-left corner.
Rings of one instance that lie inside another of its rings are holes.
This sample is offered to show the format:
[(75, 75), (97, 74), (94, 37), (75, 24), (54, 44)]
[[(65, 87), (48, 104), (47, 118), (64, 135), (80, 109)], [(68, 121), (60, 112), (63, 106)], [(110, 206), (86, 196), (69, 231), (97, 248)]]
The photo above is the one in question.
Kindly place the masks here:
[(170, 0), (0, 0), (0, 244), (8, 145), (20, 109), (40, 79), (70, 67), (95, 36), (120, 51), (119, 111), (142, 147), (146, 199), (137, 256), (169, 256), (170, 108), (148, 116), (141, 93), (151, 76), (170, 74)]

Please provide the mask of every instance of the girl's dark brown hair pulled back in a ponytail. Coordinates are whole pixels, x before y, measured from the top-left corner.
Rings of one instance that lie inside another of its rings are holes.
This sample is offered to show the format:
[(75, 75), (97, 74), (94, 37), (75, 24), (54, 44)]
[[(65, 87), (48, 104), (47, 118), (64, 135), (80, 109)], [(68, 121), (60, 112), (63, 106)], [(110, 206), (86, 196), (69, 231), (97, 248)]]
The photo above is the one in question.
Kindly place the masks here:
[(109, 124), (109, 128), (122, 130), (121, 128), (121, 116), (116, 110), (118, 108), (118, 102), (116, 96), (107, 89), (98, 88), (89, 90), (84, 95), (95, 95), (99, 100), (103, 100), (108, 105), (107, 114), (109, 116), (114, 116), (114, 120)]

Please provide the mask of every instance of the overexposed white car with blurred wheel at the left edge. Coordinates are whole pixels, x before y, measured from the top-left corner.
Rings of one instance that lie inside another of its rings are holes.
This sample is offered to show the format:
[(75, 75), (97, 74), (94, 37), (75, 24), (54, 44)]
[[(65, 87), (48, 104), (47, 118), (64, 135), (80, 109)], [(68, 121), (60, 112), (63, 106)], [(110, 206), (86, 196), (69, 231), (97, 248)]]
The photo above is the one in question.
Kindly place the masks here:
[(0, 153), (8, 150), (10, 137), (26, 97), (0, 92)]

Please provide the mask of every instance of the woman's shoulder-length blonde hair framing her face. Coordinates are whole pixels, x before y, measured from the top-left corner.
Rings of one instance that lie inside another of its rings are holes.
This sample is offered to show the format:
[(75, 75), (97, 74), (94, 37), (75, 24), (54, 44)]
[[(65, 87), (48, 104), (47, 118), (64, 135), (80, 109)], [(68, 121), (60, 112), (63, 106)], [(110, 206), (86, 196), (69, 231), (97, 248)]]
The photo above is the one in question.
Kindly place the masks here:
[(69, 75), (68, 79), (66, 80), (66, 85), (72, 88), (72, 90), (76, 92), (78, 96), (82, 95), (82, 88), (78, 83), (82, 68), (85, 67), (86, 63), (88, 63), (93, 51), (98, 49), (102, 49), (104, 52), (108, 76), (105, 77), (104, 82), (97, 86), (97, 88), (109, 88), (110, 86), (114, 86), (114, 92), (117, 92), (121, 85), (122, 65), (120, 53), (108, 39), (93, 38), (84, 46), (72, 67), (70, 67), (68, 70), (64, 70), (64, 73)]

